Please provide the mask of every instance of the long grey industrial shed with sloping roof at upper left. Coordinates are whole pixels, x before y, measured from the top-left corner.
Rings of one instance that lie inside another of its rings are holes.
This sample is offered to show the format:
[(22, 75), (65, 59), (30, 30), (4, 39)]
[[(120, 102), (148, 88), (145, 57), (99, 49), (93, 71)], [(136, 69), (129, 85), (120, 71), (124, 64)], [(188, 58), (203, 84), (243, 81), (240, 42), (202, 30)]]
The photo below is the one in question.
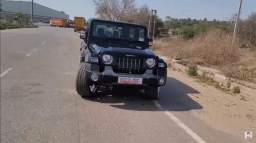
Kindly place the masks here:
[[(15, 17), (17, 13), (24, 13), (31, 17), (31, 1), (1, 0), (1, 4), (1, 19), (7, 15)], [(69, 20), (69, 15), (34, 2), (34, 21), (49, 22), (51, 18)]]

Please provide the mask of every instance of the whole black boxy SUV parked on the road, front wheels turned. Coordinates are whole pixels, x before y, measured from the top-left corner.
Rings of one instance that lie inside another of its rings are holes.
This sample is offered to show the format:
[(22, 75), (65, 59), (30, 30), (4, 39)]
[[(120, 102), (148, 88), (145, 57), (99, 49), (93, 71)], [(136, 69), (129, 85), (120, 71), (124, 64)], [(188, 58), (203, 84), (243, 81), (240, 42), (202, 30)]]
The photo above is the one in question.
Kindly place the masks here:
[(76, 91), (83, 97), (100, 87), (134, 86), (157, 100), (166, 83), (166, 63), (149, 48), (146, 26), (91, 18), (80, 33), (80, 67)]

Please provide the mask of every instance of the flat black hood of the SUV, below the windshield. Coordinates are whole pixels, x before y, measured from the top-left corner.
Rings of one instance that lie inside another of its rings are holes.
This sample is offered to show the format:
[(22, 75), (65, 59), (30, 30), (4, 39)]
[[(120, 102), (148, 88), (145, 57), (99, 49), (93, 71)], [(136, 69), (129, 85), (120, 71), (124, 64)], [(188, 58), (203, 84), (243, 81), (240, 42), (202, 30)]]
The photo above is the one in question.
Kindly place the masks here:
[(91, 43), (90, 51), (94, 53), (98, 53), (101, 55), (102, 53), (109, 53), (110, 55), (124, 55), (124, 56), (147, 56), (147, 57), (155, 57), (153, 51), (149, 48), (143, 48), (136, 45), (129, 44), (116, 44), (116, 43), (102, 43), (102, 44), (94, 44)]

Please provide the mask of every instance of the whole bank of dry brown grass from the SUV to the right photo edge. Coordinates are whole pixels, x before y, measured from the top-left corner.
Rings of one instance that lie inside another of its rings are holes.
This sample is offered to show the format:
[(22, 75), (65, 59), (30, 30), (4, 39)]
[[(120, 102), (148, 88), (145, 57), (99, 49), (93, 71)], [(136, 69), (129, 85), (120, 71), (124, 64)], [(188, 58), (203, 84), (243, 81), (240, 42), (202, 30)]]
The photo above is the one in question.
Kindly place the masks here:
[(192, 40), (182, 37), (154, 41), (161, 55), (221, 69), (231, 78), (256, 82), (256, 50), (231, 48), (231, 38), (221, 30), (210, 30)]

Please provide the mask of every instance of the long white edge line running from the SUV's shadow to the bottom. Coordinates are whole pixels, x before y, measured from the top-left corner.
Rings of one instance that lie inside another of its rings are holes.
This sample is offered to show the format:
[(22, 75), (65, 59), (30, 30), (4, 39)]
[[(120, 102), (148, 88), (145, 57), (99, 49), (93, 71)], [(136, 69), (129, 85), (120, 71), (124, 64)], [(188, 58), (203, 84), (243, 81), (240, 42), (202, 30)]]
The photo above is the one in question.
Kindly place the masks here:
[(193, 132), (190, 127), (185, 125), (183, 122), (180, 121), (179, 118), (177, 118), (175, 115), (170, 113), (170, 111), (165, 110), (157, 101), (154, 101), (155, 106), (157, 106), (159, 109), (164, 110), (164, 113), (168, 115), (170, 119), (172, 119), (181, 129), (185, 130), (194, 140), (198, 143), (206, 143), (201, 137), (199, 137), (195, 132)]

